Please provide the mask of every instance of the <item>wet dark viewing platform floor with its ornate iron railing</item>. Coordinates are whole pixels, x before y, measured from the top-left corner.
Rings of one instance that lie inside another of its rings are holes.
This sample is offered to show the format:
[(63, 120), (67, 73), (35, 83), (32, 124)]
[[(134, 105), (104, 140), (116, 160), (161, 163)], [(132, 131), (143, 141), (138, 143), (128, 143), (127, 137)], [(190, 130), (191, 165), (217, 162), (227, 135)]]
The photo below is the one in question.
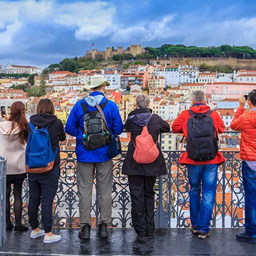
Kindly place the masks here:
[[(185, 166), (179, 165), (181, 151), (164, 151), (168, 174), (155, 186), (156, 232), (154, 238), (140, 239), (131, 228), (131, 198), (127, 177), (122, 175), (126, 152), (113, 159), (112, 228), (109, 238), (97, 236), (99, 209), (97, 184), (93, 186), (92, 236), (78, 238), (79, 198), (76, 185), (76, 154), (61, 152), (60, 182), (54, 199), (55, 233), (58, 243), (44, 244), (30, 239), (30, 232), (7, 232), (8, 241), (0, 255), (256, 255), (253, 244), (236, 240), (244, 232), (244, 191), (239, 151), (225, 151), (226, 162), (218, 168), (216, 203), (212, 211), (211, 236), (200, 240), (191, 234), (189, 220), (189, 183)], [(23, 187), (23, 223), (28, 224), (28, 183)]]

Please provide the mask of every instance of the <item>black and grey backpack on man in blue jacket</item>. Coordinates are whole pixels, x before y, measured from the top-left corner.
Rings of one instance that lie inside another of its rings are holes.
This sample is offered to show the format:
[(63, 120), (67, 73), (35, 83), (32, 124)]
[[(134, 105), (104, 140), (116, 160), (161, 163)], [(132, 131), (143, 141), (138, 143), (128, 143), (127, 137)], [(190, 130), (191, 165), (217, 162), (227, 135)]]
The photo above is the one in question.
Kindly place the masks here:
[[(107, 103), (108, 100), (99, 105), (102, 111)], [(84, 131), (81, 131), (86, 150), (97, 149), (109, 143), (110, 134), (101, 113), (98, 110), (90, 112), (88, 106), (82, 102), (81, 106), (84, 112)]]

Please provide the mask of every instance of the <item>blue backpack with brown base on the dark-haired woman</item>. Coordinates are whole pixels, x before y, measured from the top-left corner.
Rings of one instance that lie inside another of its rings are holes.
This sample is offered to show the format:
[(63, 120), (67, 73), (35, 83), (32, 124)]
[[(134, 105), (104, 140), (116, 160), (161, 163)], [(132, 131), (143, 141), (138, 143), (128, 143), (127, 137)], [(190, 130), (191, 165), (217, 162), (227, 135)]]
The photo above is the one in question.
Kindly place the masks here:
[(26, 170), (28, 173), (45, 173), (52, 170), (58, 147), (55, 154), (52, 150), (51, 140), (46, 127), (36, 127), (29, 122), (31, 132), (26, 147)]

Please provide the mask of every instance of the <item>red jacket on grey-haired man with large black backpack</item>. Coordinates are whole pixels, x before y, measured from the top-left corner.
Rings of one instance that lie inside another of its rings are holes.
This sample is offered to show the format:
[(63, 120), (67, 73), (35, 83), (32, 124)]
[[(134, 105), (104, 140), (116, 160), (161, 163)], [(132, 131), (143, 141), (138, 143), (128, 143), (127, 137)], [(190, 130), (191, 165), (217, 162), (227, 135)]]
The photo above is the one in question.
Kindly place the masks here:
[[(207, 105), (199, 105), (199, 106), (192, 106), (190, 108), (191, 111), (195, 113), (206, 113), (207, 111), (210, 110), (210, 107)], [(183, 133), (184, 136), (187, 138), (188, 136), (188, 119), (190, 115), (188, 110), (182, 111), (182, 113), (176, 118), (176, 120), (172, 124), (172, 132), (173, 133)], [(212, 111), (211, 113), (211, 118), (214, 123), (214, 127), (217, 132), (224, 132), (225, 131), (225, 124), (223, 120), (221, 119), (220, 115), (216, 111)], [(201, 165), (201, 164), (222, 164), (225, 162), (225, 158), (221, 154), (221, 152), (218, 152), (217, 156), (215, 159), (210, 160), (210, 161), (193, 161), (188, 157), (188, 152), (184, 152), (182, 156), (180, 157), (180, 164), (196, 164), (196, 165)]]

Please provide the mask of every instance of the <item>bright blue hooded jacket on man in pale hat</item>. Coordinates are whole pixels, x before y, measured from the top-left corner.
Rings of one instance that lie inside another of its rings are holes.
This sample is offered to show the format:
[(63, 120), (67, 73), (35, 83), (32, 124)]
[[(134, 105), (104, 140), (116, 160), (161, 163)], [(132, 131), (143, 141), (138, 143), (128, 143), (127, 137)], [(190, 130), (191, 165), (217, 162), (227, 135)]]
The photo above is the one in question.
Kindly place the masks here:
[[(96, 111), (96, 103), (102, 104), (105, 101), (106, 97), (103, 93), (92, 92), (88, 98), (76, 102), (76, 105), (72, 108), (70, 115), (68, 116), (65, 131), (67, 134), (76, 137), (76, 157), (79, 162), (102, 163), (111, 159), (111, 157), (108, 156), (108, 145), (104, 145), (95, 150), (86, 150), (82, 140), (83, 133), (81, 132), (81, 129), (82, 131), (84, 130), (84, 112), (81, 102), (88, 106), (89, 111)], [(109, 100), (103, 112), (111, 132), (117, 135), (121, 134), (124, 130), (124, 125), (115, 102)]]

